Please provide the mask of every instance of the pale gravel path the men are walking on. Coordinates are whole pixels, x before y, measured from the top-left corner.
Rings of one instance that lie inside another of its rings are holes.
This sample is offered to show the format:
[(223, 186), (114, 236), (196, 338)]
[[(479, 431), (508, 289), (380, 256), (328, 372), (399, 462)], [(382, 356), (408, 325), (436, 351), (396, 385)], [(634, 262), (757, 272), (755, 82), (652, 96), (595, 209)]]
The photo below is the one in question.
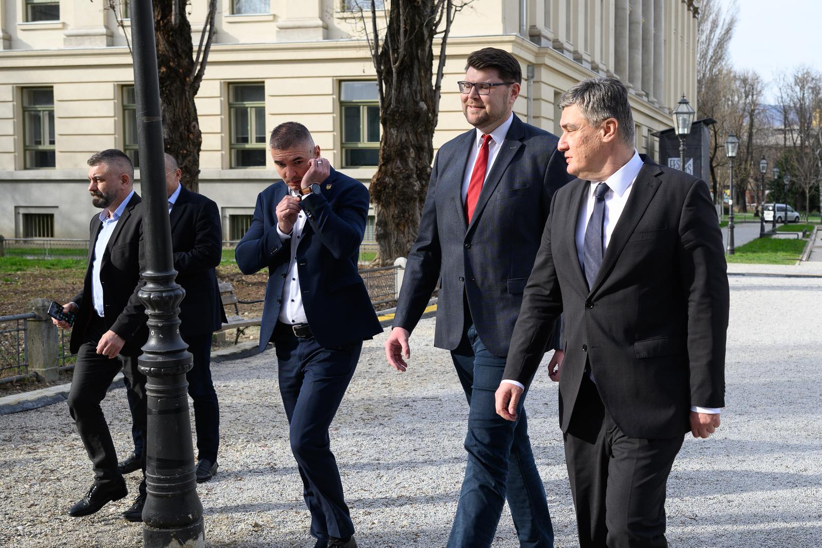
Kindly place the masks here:
[[(784, 272), (792, 267), (783, 267)], [(822, 279), (731, 278), (727, 412), (709, 440), (686, 439), (668, 483), (668, 539), (678, 547), (822, 546)], [(786, 320), (779, 313), (789, 312)], [(409, 372), (368, 342), (331, 432), (363, 548), (445, 545), (464, 470), (467, 407), (434, 320), (412, 338)], [(313, 546), (289, 452), (274, 353), (214, 366), (222, 408), (219, 472), (198, 486), (209, 546)], [(577, 546), (556, 385), (539, 374), (529, 408), (556, 546)], [(104, 402), (115, 444), (129, 449), (125, 393)], [(141, 527), (108, 504), (69, 518), (90, 466), (65, 403), (0, 417), (0, 546), (141, 546)], [(136, 492), (136, 475), (128, 477)], [(495, 547), (517, 546), (503, 514)]]

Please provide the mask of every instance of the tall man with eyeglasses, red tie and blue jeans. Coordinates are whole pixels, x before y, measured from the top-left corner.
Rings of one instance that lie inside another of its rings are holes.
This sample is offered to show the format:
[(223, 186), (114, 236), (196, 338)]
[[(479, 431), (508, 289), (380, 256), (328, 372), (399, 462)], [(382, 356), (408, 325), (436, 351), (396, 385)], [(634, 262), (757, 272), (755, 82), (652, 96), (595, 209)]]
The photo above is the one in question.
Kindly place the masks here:
[[(512, 423), (496, 415), (494, 403), (551, 198), (569, 181), (557, 137), (512, 113), (521, 81), (510, 53), (484, 48), (469, 55), (459, 91), (475, 129), (436, 155), (385, 344), (390, 365), (405, 371), (409, 335), (441, 279), (434, 344), (450, 350), (470, 408), (468, 464), (449, 548), (491, 546), (506, 496), (520, 546), (553, 546), (524, 409)], [(544, 343), (557, 347), (556, 340)], [(551, 370), (560, 359), (555, 352)]]

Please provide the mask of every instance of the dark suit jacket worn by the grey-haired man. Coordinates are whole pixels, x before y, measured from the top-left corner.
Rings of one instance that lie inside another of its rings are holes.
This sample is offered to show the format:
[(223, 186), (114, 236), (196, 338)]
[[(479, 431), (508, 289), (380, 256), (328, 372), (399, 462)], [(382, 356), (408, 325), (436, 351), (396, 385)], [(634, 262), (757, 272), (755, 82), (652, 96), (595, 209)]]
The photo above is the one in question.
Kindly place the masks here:
[(511, 340), (504, 379), (529, 380), (563, 314), (560, 425), (567, 431), (585, 364), (617, 426), (632, 438), (689, 429), (691, 405), (724, 406), (728, 283), (708, 185), (643, 156), (593, 288), (576, 219), (588, 181), (556, 193)]

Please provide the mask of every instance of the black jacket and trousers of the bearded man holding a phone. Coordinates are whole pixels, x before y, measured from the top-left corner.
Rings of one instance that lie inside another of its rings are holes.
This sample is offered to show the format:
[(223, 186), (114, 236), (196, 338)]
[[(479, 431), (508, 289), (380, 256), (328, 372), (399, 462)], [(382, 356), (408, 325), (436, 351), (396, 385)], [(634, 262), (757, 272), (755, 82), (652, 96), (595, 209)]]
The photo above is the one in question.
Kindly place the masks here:
[[(99, 214), (91, 218), (88, 267), (83, 288), (72, 299), (79, 311), (69, 343), (72, 353), (77, 354), (77, 361), (68, 394), (68, 408), (99, 484), (119, 481), (121, 477), (109, 426), (100, 408), (100, 402), (120, 367), (129, 381), (135, 421), (145, 431), (145, 375), (137, 371), (137, 357), (148, 338), (145, 307), (137, 297), (143, 284), (140, 278), (141, 225), (140, 196), (135, 193), (114, 227), (102, 257), (99, 279), (103, 287), (104, 316), (100, 317), (94, 308), (91, 278), (95, 243), (102, 223)], [(109, 329), (126, 341), (119, 356), (113, 360), (96, 353), (99, 338)], [(143, 468), (145, 470), (145, 458)], [(143, 489), (145, 481), (141, 484)]]

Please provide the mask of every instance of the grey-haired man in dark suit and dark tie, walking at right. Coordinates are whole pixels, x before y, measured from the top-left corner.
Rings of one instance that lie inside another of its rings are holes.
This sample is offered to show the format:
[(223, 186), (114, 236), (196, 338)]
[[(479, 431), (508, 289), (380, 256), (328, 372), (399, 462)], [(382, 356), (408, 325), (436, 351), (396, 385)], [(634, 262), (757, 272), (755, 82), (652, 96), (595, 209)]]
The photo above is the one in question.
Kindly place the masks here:
[[(560, 426), (582, 548), (667, 546), (665, 488), (683, 434), (724, 405), (728, 284), (708, 185), (634, 149), (620, 81), (561, 100), (568, 173), (525, 288), (503, 378), (527, 384), (563, 314)], [(515, 421), (523, 390), (503, 381)]]

